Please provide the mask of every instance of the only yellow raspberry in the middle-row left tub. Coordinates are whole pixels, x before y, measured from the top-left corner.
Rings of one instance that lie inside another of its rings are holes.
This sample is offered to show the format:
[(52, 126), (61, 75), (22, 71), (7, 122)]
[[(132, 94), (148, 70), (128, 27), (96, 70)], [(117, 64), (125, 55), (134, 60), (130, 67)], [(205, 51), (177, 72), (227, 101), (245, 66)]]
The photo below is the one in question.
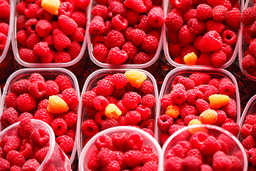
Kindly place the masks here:
[(65, 113), (68, 111), (68, 104), (60, 98), (58, 95), (51, 95), (49, 97), (49, 104), (47, 106), (47, 110), (50, 113)]

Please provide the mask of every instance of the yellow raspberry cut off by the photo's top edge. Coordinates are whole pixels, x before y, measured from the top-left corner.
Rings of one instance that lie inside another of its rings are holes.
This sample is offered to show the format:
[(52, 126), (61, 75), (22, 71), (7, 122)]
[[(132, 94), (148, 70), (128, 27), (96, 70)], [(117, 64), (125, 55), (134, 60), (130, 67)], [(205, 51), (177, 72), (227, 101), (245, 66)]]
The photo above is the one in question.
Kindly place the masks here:
[(58, 9), (60, 8), (60, 0), (42, 0), (41, 6), (50, 14), (58, 15)]

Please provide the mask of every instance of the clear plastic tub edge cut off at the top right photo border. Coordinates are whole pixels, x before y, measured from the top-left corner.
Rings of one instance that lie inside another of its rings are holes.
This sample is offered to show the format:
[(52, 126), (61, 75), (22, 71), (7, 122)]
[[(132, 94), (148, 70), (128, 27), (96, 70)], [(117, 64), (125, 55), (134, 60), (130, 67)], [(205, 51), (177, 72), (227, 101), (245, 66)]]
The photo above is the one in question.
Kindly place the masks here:
[[(245, 9), (247, 9), (248, 7), (252, 7), (254, 6), (254, 3), (253, 1), (251, 0), (247, 0), (245, 2)], [(241, 23), (241, 26), (240, 26), (240, 35), (239, 35), (239, 50), (238, 50), (238, 61), (239, 61), (239, 67), (240, 67), (240, 70), (242, 71), (242, 74), (245, 75), (247, 78), (249, 78), (250, 80), (252, 81), (256, 81), (256, 76), (252, 76), (250, 75), (250, 73), (247, 73), (247, 71), (245, 71), (244, 68), (242, 68), (242, 59), (245, 57), (245, 51), (247, 49), (247, 44), (245, 43), (244, 41), (244, 36), (242, 34), (242, 29), (244, 28), (244, 25)]]

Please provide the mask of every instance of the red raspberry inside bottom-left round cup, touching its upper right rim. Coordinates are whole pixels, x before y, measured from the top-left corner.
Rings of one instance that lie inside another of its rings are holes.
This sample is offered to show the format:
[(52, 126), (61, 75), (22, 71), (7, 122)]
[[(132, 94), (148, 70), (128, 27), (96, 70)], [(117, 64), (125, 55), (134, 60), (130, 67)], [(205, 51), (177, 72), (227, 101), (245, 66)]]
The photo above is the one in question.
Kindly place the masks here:
[(33, 142), (36, 147), (43, 147), (49, 140), (49, 134), (45, 130), (35, 128), (31, 133), (31, 142)]

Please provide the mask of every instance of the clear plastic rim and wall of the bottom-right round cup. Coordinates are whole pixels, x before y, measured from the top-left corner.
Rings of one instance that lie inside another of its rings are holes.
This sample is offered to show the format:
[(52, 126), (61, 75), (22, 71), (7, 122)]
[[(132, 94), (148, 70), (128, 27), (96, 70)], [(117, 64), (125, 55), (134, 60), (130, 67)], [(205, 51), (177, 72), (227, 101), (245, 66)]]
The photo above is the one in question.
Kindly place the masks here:
[(232, 144), (228, 146), (228, 152), (226, 155), (235, 155), (236, 157), (238, 157), (242, 162), (242, 170), (247, 171), (247, 157), (245, 149), (244, 147), (242, 147), (241, 142), (227, 130), (224, 130), (223, 128), (217, 127), (215, 125), (205, 124), (187, 126), (171, 135), (171, 137), (166, 140), (166, 143), (162, 148), (161, 156), (159, 159), (159, 170), (164, 170), (164, 165), (166, 163), (166, 153), (171, 150), (171, 147), (174, 147), (174, 145), (176, 145), (176, 143), (178, 143), (179, 141), (189, 141), (193, 133), (199, 132), (201, 130), (203, 130), (204, 133), (208, 132), (208, 135), (212, 135), (215, 138), (218, 138), (218, 136), (221, 135), (223, 136), (223, 138), (225, 138), (225, 140), (227, 140), (225, 142), (229, 142), (230, 144)]

